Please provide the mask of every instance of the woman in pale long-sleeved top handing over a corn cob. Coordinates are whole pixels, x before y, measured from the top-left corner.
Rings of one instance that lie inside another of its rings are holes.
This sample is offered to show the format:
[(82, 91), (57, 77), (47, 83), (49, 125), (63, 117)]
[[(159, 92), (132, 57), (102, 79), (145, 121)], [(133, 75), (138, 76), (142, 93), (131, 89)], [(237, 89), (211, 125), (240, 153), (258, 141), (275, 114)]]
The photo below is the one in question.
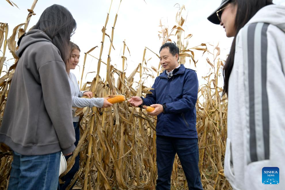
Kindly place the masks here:
[[(69, 79), (69, 85), (70, 85), (70, 89), (71, 89), (71, 96), (72, 96), (72, 107), (77, 107), (77, 108), (83, 108), (83, 107), (102, 107), (102, 108), (106, 108), (106, 107), (110, 107), (113, 104), (111, 104), (110, 102), (107, 101), (108, 98), (93, 98), (93, 93), (89, 92), (89, 91), (80, 91), (79, 89), (79, 85), (77, 83), (76, 77), (73, 73), (70, 72), (71, 69), (75, 69), (75, 67), (77, 66), (78, 62), (79, 62), (79, 57), (80, 57), (80, 49), (78, 47), (78, 45), (76, 45), (73, 42), (70, 42), (71, 45), (71, 57), (68, 60), (68, 63), (66, 64), (66, 71), (68, 74), (68, 79)], [(87, 96), (89, 98), (80, 98), (82, 96)], [(73, 110), (73, 114), (74, 114), (74, 110)], [(74, 145), (77, 146), (78, 141), (79, 141), (79, 116), (73, 117), (73, 126), (74, 126), (74, 130), (75, 130), (75, 143)], [(66, 156), (66, 160), (70, 157)], [(58, 189), (66, 189), (66, 187), (69, 185), (69, 183), (71, 182), (73, 176), (75, 175), (75, 173), (79, 170), (79, 155), (77, 155), (77, 157), (75, 158), (75, 163), (73, 165), (73, 167), (71, 168), (71, 170), (69, 170), (69, 172), (63, 176), (61, 179), (62, 181), (65, 181), (63, 184), (60, 184), (60, 187), (58, 187)], [(75, 183), (71, 186), (70, 189), (72, 189), (72, 187), (75, 185)]]

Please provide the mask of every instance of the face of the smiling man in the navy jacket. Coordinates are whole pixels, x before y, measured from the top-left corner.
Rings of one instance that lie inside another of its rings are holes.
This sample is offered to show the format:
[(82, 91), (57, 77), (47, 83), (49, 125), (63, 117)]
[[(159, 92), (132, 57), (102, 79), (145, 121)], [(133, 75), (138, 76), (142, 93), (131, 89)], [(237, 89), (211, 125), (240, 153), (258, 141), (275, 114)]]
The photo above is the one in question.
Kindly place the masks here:
[(169, 48), (165, 47), (159, 54), (160, 64), (164, 70), (171, 71), (178, 66), (178, 54), (174, 56), (169, 52)]

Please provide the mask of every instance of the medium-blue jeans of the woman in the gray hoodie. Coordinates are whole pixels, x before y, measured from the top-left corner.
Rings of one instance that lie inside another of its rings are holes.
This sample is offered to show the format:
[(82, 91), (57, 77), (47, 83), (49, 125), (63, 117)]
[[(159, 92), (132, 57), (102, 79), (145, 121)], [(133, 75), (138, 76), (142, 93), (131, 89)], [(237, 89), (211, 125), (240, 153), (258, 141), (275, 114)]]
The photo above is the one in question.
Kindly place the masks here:
[(60, 152), (37, 156), (13, 153), (8, 190), (56, 189)]

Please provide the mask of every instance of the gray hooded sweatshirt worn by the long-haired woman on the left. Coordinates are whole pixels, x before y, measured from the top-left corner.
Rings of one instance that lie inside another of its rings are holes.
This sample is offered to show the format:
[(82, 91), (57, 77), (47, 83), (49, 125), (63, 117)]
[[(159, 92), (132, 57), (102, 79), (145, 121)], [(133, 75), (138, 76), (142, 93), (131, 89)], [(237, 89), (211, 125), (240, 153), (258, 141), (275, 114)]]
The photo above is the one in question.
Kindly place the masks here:
[(71, 91), (59, 50), (44, 32), (31, 30), (22, 37), (17, 55), (0, 142), (22, 155), (71, 153)]

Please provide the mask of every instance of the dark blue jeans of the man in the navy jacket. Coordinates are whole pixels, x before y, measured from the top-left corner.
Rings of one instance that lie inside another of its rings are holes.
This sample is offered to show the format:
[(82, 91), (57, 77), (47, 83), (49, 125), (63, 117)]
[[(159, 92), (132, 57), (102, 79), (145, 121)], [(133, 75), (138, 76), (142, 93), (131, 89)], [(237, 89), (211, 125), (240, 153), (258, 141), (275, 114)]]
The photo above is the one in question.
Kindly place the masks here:
[(189, 189), (203, 189), (198, 167), (197, 138), (156, 136), (157, 174), (156, 190), (170, 190), (170, 178), (175, 154), (181, 162)]

